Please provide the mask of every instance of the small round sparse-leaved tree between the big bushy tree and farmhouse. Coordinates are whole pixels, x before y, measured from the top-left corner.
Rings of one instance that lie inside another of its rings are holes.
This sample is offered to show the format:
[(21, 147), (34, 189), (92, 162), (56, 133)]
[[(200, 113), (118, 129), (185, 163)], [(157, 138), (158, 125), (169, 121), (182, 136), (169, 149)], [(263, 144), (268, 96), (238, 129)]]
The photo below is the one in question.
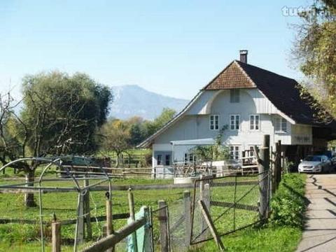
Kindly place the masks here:
[(117, 155), (116, 167), (120, 165), (123, 151), (130, 148), (130, 130), (122, 120), (109, 120), (102, 126), (102, 151), (114, 151)]

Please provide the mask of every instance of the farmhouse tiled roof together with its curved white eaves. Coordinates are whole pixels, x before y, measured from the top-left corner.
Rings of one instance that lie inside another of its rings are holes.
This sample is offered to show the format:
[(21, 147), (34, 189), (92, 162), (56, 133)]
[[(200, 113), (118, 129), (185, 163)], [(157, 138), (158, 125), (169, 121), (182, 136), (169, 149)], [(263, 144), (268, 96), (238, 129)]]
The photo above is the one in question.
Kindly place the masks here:
[[(328, 125), (316, 122), (314, 109), (300, 96), (300, 84), (292, 78), (260, 69), (239, 61), (231, 62), (221, 73), (190, 101), (183, 111), (162, 129), (148, 137), (139, 147), (148, 147), (169, 127), (185, 116), (205, 116), (210, 113), (213, 102), (223, 90), (245, 89), (253, 98), (256, 113), (278, 114), (291, 124), (335, 127), (335, 121)], [(262, 94), (260, 96), (260, 94)]]

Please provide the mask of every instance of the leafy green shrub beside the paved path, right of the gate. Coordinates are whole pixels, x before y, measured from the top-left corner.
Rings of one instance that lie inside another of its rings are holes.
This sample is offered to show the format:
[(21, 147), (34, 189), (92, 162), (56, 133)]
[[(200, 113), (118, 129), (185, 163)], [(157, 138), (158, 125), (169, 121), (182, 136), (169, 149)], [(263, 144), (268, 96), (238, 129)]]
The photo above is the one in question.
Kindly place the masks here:
[(306, 209), (304, 175), (285, 174), (271, 201), (270, 223), (300, 227)]

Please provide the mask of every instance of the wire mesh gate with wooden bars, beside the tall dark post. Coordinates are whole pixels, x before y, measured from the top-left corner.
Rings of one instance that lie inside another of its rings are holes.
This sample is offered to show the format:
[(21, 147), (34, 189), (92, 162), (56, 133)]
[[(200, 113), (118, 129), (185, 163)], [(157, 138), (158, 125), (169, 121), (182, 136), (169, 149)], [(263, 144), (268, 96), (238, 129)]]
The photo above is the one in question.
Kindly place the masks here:
[(200, 201), (209, 211), (219, 236), (267, 218), (269, 172), (250, 176), (204, 177), (195, 181), (191, 244), (213, 239)]

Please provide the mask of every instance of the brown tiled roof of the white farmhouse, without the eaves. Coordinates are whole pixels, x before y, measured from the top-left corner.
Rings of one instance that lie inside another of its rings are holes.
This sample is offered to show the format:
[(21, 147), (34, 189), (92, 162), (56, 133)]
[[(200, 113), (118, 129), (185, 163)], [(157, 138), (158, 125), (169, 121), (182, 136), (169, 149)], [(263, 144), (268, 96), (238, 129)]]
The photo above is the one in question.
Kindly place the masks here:
[(316, 110), (309, 101), (302, 99), (302, 87), (293, 78), (261, 69), (258, 66), (234, 61), (204, 87), (204, 90), (221, 90), (232, 88), (258, 88), (276, 109), (292, 118), (296, 123), (336, 127), (335, 120), (328, 125), (316, 118)]

